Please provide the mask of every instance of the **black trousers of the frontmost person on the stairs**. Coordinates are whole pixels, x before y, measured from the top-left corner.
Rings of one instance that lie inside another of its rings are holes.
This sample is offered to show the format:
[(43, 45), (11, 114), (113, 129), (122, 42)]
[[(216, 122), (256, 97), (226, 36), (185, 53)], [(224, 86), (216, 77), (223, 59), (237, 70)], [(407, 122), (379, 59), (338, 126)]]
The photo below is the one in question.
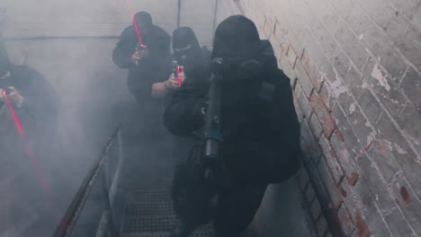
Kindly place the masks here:
[(179, 164), (172, 190), (176, 215), (192, 228), (213, 221), (218, 237), (238, 236), (253, 221), (268, 184), (225, 180), (210, 190), (198, 179), (197, 165)]

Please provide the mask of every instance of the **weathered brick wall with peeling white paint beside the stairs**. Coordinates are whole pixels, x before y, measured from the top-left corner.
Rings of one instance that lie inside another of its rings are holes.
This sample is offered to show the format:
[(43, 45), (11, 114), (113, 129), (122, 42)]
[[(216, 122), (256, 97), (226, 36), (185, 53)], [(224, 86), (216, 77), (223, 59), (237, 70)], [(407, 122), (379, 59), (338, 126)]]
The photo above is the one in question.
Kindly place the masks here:
[(318, 236), (419, 236), (419, 1), (234, 4), (291, 78)]

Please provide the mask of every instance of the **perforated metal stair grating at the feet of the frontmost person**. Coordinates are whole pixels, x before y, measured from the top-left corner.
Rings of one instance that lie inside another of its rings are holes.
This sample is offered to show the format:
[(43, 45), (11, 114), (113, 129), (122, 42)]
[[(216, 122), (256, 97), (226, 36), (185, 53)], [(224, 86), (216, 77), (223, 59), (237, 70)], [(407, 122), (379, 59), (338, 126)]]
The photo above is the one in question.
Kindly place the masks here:
[[(125, 222), (121, 237), (169, 237), (177, 218), (171, 200), (171, 179), (166, 176), (139, 177), (128, 185)], [(255, 237), (247, 232), (244, 237)], [(211, 224), (196, 230), (190, 237), (215, 237)]]

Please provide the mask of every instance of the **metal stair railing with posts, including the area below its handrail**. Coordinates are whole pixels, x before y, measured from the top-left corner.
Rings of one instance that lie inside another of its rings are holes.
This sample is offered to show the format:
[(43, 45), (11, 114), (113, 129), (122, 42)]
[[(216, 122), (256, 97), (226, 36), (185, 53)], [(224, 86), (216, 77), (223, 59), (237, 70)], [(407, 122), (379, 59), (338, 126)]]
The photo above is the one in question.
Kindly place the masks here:
[(53, 237), (118, 236), (122, 205), (117, 195), (122, 161), (119, 124), (94, 161)]

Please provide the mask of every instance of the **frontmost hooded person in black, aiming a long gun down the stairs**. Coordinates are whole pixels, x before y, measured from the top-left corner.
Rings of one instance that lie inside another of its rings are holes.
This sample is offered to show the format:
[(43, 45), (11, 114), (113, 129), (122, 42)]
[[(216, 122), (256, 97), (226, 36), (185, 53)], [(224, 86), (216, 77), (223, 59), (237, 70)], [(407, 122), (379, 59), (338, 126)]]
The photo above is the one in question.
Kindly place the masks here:
[[(204, 173), (203, 143), (193, 149), (195, 158), (175, 172), (177, 202), (184, 206), (173, 233), (178, 237), (212, 220), (217, 236), (238, 236), (252, 222), (267, 186), (300, 169), (300, 124), (290, 80), (277, 68), (272, 46), (260, 40), (255, 24), (241, 15), (221, 22), (211, 58), (217, 62), (212, 78), (220, 78), (223, 145), (213, 182)], [(209, 136), (203, 127), (210, 87), (209, 76), (187, 76), (166, 109), (166, 127), (180, 136)]]

